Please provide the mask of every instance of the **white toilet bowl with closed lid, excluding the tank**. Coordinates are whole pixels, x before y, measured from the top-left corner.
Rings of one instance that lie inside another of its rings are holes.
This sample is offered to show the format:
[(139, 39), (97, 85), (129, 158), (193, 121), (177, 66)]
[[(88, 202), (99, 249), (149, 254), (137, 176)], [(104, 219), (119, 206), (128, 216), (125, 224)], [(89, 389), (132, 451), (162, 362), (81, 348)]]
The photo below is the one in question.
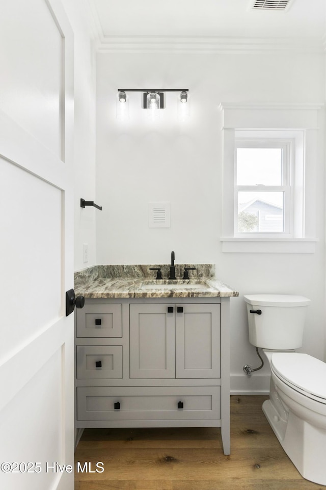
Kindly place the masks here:
[(266, 419), (302, 476), (326, 485), (326, 364), (307, 354), (273, 353), (270, 371)]

